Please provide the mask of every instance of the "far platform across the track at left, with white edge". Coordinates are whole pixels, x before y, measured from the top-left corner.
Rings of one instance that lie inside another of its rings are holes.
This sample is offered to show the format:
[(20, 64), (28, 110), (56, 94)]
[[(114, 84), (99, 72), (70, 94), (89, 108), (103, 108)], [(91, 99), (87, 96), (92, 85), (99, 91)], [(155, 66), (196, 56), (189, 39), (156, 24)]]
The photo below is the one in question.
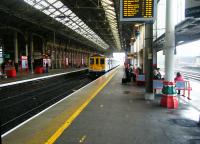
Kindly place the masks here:
[(43, 79), (43, 78), (48, 78), (54, 75), (62, 75), (62, 74), (67, 74), (71, 73), (73, 71), (81, 71), (81, 70), (86, 70), (87, 67), (82, 67), (82, 68), (66, 68), (66, 69), (49, 69), (48, 73), (42, 73), (42, 74), (35, 74), (35, 73), (17, 73), (16, 77), (8, 77), (8, 78), (0, 78), (0, 87), (8, 85), (12, 85), (14, 83), (18, 82), (26, 82), (26, 81), (32, 81), (34, 79)]

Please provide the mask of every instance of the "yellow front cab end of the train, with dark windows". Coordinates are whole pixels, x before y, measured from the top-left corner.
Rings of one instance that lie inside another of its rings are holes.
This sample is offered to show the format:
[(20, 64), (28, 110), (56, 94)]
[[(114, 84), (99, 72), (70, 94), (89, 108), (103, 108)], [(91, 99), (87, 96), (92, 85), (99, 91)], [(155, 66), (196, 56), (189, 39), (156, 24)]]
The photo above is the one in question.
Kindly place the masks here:
[(105, 74), (105, 57), (91, 57), (89, 73), (95, 77)]

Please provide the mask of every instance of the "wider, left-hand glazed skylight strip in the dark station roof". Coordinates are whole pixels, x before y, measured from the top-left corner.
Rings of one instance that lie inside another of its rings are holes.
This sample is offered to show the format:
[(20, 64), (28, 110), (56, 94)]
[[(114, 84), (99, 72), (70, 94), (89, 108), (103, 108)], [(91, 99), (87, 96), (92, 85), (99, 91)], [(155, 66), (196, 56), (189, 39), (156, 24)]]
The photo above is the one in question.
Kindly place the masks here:
[(24, 2), (54, 18), (56, 21), (61, 22), (101, 48), (107, 49), (109, 47), (108, 44), (60, 0), (24, 0)]

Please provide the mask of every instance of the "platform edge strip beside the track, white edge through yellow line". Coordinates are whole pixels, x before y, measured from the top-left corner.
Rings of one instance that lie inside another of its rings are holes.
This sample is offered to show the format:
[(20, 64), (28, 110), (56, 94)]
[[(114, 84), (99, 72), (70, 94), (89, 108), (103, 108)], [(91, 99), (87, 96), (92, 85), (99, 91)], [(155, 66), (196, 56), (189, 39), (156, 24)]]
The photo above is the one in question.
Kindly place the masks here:
[[(26, 121), (23, 125), (3, 135), (3, 144), (50, 144), (52, 135), (66, 122), (70, 125), (74, 113), (80, 113), (84, 106), (106, 85), (116, 70), (76, 90), (65, 99)], [(50, 139), (50, 141), (49, 141)]]

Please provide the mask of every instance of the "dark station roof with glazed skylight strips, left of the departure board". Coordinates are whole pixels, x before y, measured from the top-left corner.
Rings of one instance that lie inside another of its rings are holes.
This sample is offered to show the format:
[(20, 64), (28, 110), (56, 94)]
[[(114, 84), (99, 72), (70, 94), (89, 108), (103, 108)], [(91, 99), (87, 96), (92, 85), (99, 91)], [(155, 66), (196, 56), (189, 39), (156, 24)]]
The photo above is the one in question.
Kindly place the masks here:
[(53, 31), (97, 49), (120, 50), (115, 7), (110, 0), (2, 0), (0, 26)]

